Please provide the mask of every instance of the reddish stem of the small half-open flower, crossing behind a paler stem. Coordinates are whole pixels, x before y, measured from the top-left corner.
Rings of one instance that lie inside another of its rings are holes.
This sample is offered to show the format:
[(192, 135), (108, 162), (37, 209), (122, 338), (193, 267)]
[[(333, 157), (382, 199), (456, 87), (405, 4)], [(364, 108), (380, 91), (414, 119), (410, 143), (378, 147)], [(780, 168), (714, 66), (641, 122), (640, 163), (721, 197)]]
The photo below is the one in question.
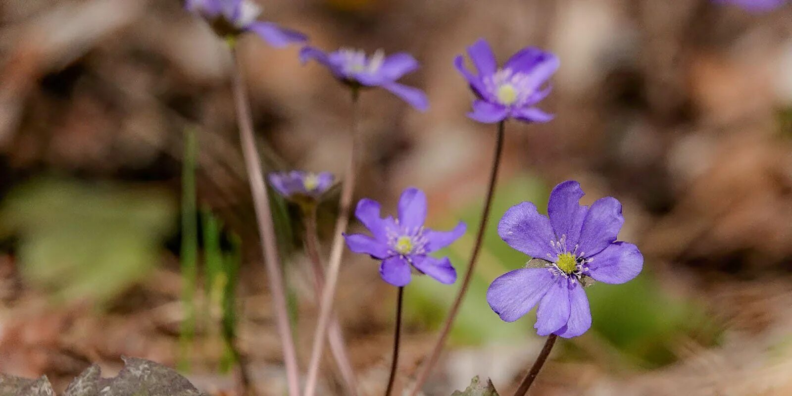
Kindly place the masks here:
[[(324, 265), (322, 265), (322, 259), (319, 254), (316, 205), (311, 205), (310, 208), (303, 208), (303, 223), (305, 223), (305, 249), (308, 258), (310, 258), (311, 267), (314, 272), (314, 292), (318, 302), (319, 295), (322, 293), (322, 287), (325, 284), (325, 268)], [(338, 366), (338, 371), (341, 372), (341, 378), (344, 380), (344, 384), (347, 388), (346, 394), (349, 396), (356, 396), (357, 381), (355, 379), (355, 371), (352, 369), (352, 364), (349, 363), (344, 333), (341, 332), (341, 326), (338, 324), (338, 318), (335, 314), (330, 316), (330, 328), (327, 333), (327, 341), (330, 345), (330, 352), (333, 353), (333, 359)]]

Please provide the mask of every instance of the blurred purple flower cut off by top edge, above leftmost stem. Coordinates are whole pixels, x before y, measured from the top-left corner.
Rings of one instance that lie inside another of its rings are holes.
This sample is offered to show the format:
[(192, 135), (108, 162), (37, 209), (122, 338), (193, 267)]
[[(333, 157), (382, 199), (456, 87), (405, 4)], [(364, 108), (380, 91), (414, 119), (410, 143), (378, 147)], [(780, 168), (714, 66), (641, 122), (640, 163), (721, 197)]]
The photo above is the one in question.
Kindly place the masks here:
[(253, 32), (276, 48), (307, 41), (303, 33), (257, 21), (261, 7), (253, 0), (186, 0), (185, 8), (204, 17), (219, 36)]

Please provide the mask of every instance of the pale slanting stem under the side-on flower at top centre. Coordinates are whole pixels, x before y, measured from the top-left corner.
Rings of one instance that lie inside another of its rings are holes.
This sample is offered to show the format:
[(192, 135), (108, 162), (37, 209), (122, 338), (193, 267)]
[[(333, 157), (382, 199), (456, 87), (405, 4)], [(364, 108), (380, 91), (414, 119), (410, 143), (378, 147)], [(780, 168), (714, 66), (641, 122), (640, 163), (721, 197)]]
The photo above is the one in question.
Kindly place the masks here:
[(358, 156), (360, 151), (360, 133), (358, 132), (358, 91), (352, 89), (352, 141), (349, 162), (344, 175), (344, 186), (341, 188), (341, 200), (338, 202), (338, 219), (333, 230), (333, 246), (330, 249), (330, 260), (327, 268), (325, 287), (322, 289), (322, 300), (319, 304), (319, 319), (314, 333), (314, 345), (310, 354), (308, 377), (306, 380), (304, 396), (314, 396), (316, 381), (319, 373), (319, 360), (322, 359), (327, 329), (330, 324), (330, 314), (333, 312), (333, 299), (336, 295), (338, 272), (341, 268), (341, 256), (344, 253), (344, 233), (349, 223), (349, 211), (352, 209), (352, 192), (355, 191), (355, 178)]

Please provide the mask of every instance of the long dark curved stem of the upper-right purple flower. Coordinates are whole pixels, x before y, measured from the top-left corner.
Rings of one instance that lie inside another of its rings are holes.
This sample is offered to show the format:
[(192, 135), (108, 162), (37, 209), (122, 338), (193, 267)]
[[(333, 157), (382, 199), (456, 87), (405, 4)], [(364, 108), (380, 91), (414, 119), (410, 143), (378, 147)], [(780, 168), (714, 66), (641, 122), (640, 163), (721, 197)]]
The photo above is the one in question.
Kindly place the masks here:
[(462, 286), (459, 287), (459, 292), (456, 295), (456, 299), (454, 303), (451, 304), (451, 310), (448, 311), (448, 316), (446, 321), (443, 325), (443, 329), (440, 329), (440, 336), (437, 337), (437, 342), (435, 347), (432, 348), (432, 353), (429, 354), (426, 363), (424, 364), (423, 368), (421, 368), (420, 373), (417, 376), (417, 380), (415, 382), (415, 387), (413, 388), (411, 396), (416, 396), (418, 392), (421, 391), (421, 386), (424, 385), (426, 380), (429, 377), (429, 374), (432, 372), (432, 368), (437, 363), (437, 360), (440, 358), (440, 352), (443, 351), (445, 346), (445, 341), (448, 337), (448, 333), (451, 332), (451, 326), (454, 324), (454, 320), (456, 319), (456, 315), (459, 314), (459, 307), (462, 306), (462, 301), (465, 298), (465, 293), (467, 292), (467, 287), (470, 286), (470, 280), (473, 279), (473, 273), (476, 268), (476, 260), (478, 259), (478, 253), (482, 249), (482, 242), (484, 241), (484, 231), (487, 228), (487, 222), (489, 221), (489, 209), (492, 208), (492, 201), (493, 196), (495, 196), (495, 185), (497, 184), (497, 173), (498, 169), (501, 168), (501, 156), (503, 154), (503, 141), (505, 135), (505, 121), (501, 121), (500, 124), (497, 126), (497, 138), (495, 142), (495, 154), (493, 157), (493, 166), (492, 170), (489, 173), (489, 187), (487, 188), (487, 195), (484, 199), (484, 209), (482, 210), (482, 221), (478, 223), (478, 234), (476, 234), (476, 242), (473, 245), (473, 252), (470, 253), (470, 263), (467, 265), (467, 272), (465, 272), (465, 277), (462, 280)]

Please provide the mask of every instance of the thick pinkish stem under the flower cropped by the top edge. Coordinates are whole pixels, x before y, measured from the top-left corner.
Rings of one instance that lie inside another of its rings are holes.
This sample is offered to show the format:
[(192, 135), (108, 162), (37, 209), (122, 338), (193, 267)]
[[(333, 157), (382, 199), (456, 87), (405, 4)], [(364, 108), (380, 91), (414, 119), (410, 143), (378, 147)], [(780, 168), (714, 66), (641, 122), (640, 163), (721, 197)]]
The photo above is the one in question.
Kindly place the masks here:
[[(233, 47), (232, 47), (233, 49)], [(275, 322), (280, 335), (280, 345), (283, 347), (284, 366), (289, 396), (299, 395), (299, 368), (297, 367), (297, 354), (294, 341), (291, 338), (289, 318), (286, 309), (286, 292), (284, 291), (284, 278), (280, 272), (280, 259), (275, 239), (275, 227), (272, 225), (272, 212), (270, 211), (269, 196), (264, 182), (263, 164), (256, 148), (256, 139), (253, 136), (253, 120), (250, 118), (250, 109), (245, 90), (245, 80), (242, 76), (242, 67), (237, 51), (232, 51), (236, 67), (234, 67), (234, 102), (237, 107), (237, 121), (239, 124), (239, 137), (242, 142), (242, 154), (245, 157), (245, 166), (248, 173), (250, 192), (253, 194), (253, 208), (256, 211), (261, 249), (264, 263), (269, 278), (269, 289), (272, 293), (272, 306), (275, 310)]]

